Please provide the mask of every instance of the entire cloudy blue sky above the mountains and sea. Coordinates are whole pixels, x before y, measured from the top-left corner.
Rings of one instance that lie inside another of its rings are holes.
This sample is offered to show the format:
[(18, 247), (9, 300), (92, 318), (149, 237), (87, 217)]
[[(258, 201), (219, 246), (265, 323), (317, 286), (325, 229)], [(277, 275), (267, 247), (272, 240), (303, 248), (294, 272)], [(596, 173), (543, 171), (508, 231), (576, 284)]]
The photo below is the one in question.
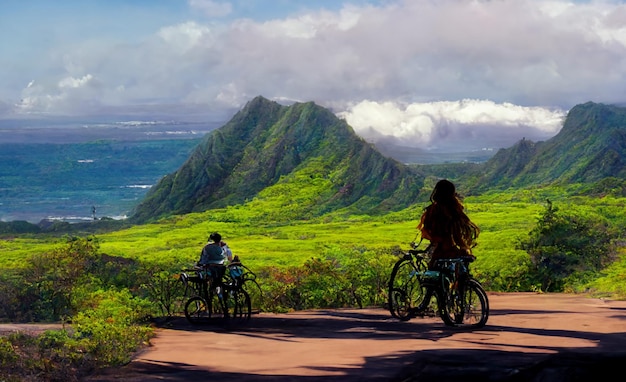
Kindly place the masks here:
[(626, 103), (622, 1), (5, 0), (0, 47), (5, 119), (226, 121), (263, 95), (442, 148)]

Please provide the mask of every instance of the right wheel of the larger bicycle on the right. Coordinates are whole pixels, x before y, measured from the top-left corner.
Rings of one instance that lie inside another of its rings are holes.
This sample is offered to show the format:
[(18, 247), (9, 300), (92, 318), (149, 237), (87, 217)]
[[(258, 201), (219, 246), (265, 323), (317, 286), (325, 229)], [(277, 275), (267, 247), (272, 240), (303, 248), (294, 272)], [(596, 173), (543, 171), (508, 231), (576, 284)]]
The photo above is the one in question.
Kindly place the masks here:
[(448, 326), (481, 328), (489, 318), (489, 300), (483, 287), (474, 279), (450, 290), (441, 312)]

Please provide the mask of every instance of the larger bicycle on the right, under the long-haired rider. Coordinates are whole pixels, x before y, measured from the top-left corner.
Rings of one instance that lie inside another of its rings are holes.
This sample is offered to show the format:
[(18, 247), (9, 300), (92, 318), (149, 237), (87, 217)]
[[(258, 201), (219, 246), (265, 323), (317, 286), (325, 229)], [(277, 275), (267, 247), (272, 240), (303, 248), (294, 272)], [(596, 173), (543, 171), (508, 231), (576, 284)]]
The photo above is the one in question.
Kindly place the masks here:
[[(489, 299), (472, 277), (473, 256), (435, 261), (428, 269), (431, 247), (418, 249), (411, 243), (395, 263), (389, 279), (389, 312), (401, 321), (418, 316), (439, 316), (445, 325), (480, 328), (489, 318)], [(433, 309), (432, 297), (436, 306)], [(425, 301), (426, 298), (429, 301)]]

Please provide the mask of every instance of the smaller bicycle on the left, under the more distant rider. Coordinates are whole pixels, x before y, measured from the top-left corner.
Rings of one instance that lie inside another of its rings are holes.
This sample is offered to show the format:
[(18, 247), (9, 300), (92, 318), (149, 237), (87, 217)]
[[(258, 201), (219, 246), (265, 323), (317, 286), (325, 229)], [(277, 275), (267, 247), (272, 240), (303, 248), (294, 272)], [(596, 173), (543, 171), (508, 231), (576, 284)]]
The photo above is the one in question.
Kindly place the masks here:
[[(190, 276), (188, 272), (195, 275)], [(243, 324), (250, 319), (250, 296), (242, 288), (242, 282), (234, 272), (231, 275), (230, 270), (226, 272), (226, 268), (217, 265), (196, 266), (184, 269), (180, 280), (185, 286), (185, 296), (191, 292), (184, 308), (185, 317), (190, 323), (222, 321)]]

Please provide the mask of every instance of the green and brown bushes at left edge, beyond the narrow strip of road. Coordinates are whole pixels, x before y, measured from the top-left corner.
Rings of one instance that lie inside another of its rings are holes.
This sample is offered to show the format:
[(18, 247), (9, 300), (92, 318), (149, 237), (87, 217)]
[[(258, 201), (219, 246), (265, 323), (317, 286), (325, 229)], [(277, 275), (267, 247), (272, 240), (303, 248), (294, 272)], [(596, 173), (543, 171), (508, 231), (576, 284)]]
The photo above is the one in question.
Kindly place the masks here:
[[(44, 247), (45, 248), (45, 247)], [(66, 237), (56, 248), (30, 255), (0, 275), (0, 313), (12, 321), (57, 321), (91, 304), (102, 287), (138, 289), (134, 260), (99, 252), (94, 237)]]

